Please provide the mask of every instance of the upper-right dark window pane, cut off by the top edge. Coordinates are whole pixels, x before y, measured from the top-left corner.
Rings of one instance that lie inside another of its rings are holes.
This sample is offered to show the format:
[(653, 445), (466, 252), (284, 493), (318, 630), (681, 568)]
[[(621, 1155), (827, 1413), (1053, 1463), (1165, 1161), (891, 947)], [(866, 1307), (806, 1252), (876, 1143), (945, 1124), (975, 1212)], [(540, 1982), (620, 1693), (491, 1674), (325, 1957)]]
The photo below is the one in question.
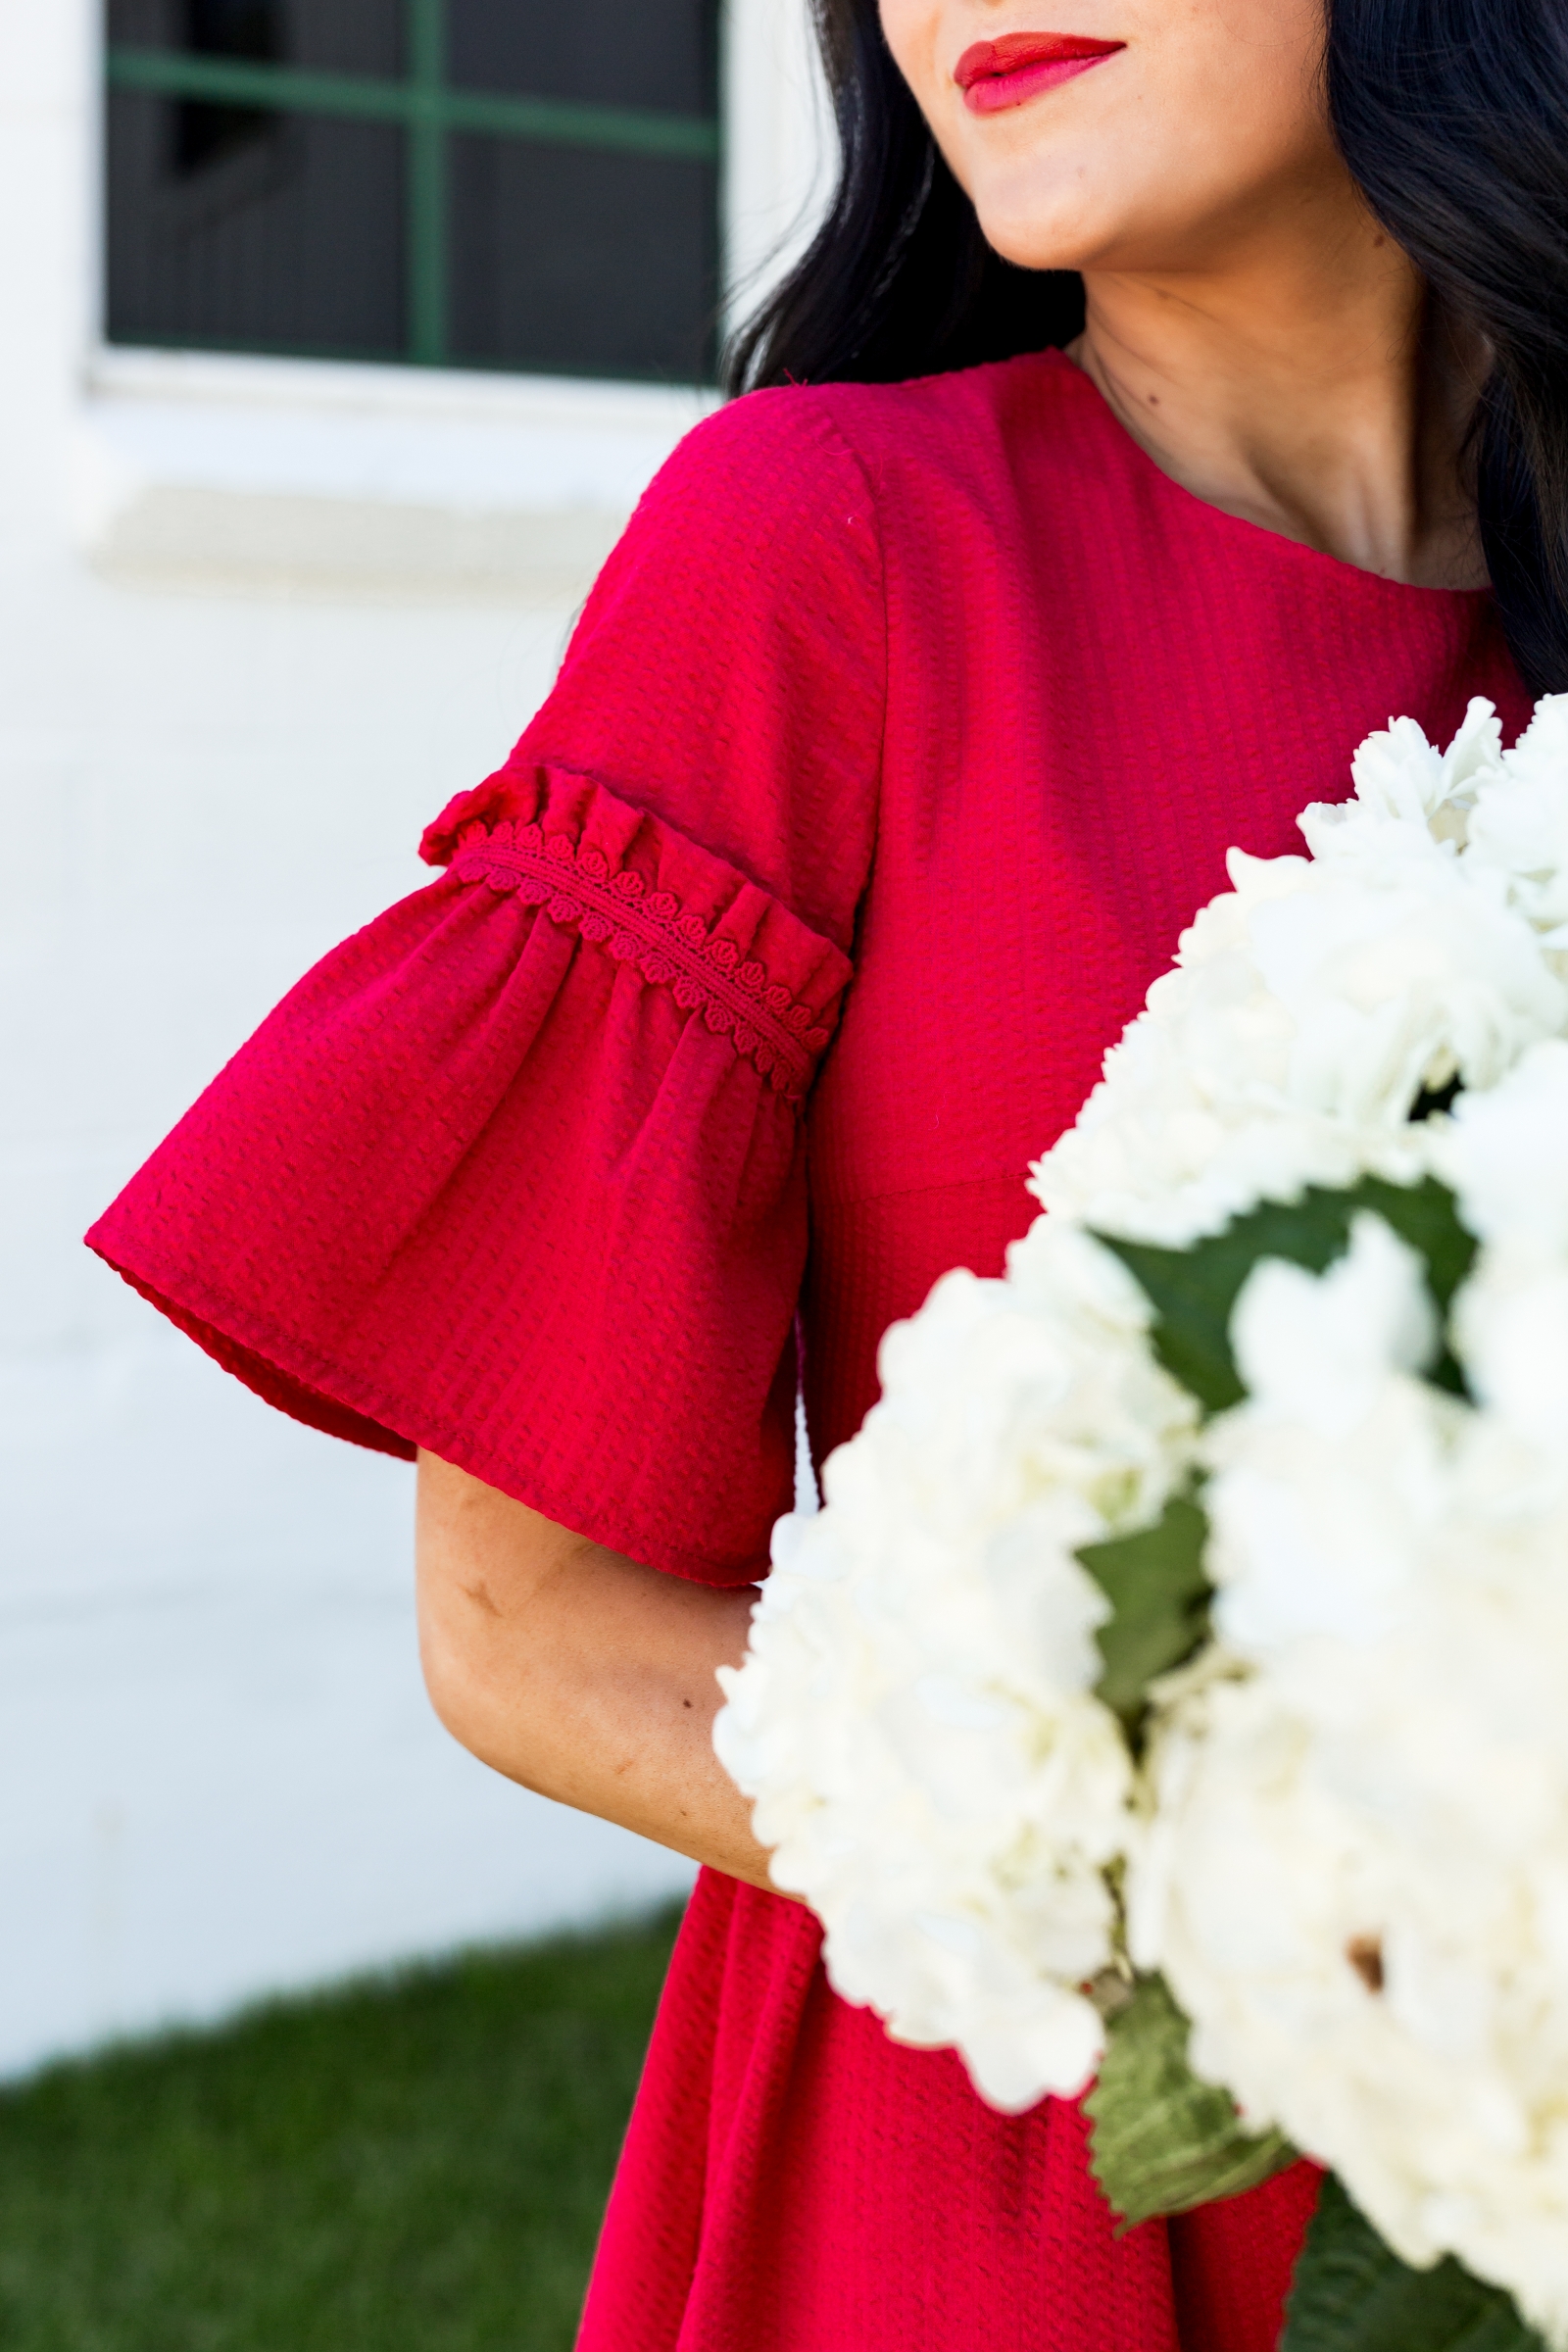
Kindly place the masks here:
[(447, 71), (461, 89), (717, 111), (715, 0), (449, 0)]

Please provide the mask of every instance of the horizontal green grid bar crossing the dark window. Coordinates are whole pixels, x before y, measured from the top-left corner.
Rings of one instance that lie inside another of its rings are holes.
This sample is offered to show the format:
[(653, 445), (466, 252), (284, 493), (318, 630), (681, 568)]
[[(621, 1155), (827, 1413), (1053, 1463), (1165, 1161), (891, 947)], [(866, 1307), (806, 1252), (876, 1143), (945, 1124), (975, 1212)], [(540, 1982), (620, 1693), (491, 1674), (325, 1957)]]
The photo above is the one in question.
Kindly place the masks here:
[(277, 113), (341, 115), (360, 122), (393, 122), (404, 129), (428, 125), (435, 132), (477, 132), (491, 139), (604, 148), (621, 155), (665, 155), (675, 162), (719, 160), (717, 122), (635, 106), (512, 99), (416, 80), (378, 82), (357, 73), (313, 73), (299, 66), (261, 66), (190, 56), (176, 49), (132, 47), (108, 52), (108, 80), (115, 89), (139, 89), (165, 99), (207, 99), (214, 106), (270, 106)]

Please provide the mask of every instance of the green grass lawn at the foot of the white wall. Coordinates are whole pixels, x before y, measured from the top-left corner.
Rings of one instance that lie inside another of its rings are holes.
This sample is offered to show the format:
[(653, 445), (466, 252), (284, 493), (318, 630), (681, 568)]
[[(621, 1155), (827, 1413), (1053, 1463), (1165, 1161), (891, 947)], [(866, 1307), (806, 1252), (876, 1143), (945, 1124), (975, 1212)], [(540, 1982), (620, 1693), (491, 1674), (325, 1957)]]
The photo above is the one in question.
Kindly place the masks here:
[(0, 2093), (5, 2352), (564, 2352), (675, 1917)]

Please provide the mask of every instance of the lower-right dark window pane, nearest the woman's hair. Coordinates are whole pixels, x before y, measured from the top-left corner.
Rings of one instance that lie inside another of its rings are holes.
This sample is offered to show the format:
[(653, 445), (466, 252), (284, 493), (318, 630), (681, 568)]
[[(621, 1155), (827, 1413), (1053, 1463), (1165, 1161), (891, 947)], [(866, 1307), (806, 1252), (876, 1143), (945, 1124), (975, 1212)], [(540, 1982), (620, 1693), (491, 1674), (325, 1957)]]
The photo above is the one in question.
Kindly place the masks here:
[(701, 162), (454, 139), (454, 360), (708, 381), (712, 181)]

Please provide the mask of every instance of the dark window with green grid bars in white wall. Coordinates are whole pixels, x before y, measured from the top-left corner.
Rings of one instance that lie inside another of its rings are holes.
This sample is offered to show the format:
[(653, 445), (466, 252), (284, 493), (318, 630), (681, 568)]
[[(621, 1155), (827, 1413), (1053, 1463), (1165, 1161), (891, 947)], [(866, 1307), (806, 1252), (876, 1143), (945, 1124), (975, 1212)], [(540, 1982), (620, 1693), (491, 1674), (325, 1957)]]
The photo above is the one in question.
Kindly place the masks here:
[(108, 0), (108, 339), (705, 383), (717, 0)]

